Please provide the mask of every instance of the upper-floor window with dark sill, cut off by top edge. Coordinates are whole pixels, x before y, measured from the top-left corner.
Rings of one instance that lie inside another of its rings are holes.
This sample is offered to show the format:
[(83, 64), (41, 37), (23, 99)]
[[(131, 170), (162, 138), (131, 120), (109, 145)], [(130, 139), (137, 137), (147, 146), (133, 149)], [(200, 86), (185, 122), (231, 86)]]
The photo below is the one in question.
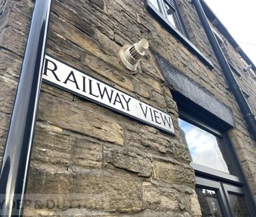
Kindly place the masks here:
[(209, 68), (213, 63), (201, 53), (191, 42), (180, 16), (176, 0), (144, 0), (145, 7), (166, 29), (180, 40), (188, 50), (194, 53)]

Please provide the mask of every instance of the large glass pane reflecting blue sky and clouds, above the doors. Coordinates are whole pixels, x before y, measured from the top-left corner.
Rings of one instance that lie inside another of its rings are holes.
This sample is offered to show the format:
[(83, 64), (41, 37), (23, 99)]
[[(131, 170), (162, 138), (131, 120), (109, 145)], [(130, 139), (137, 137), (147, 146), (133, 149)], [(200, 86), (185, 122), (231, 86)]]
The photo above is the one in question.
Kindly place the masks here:
[(185, 134), (194, 163), (235, 174), (227, 149), (220, 138), (181, 119), (179, 119), (179, 126)]

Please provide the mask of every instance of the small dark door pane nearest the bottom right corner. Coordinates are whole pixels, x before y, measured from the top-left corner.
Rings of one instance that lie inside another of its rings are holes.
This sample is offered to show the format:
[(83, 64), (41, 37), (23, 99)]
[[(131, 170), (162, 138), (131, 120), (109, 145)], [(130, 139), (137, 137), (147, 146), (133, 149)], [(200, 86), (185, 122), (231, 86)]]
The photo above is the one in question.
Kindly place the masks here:
[(243, 196), (229, 194), (229, 198), (236, 217), (248, 217), (248, 210)]

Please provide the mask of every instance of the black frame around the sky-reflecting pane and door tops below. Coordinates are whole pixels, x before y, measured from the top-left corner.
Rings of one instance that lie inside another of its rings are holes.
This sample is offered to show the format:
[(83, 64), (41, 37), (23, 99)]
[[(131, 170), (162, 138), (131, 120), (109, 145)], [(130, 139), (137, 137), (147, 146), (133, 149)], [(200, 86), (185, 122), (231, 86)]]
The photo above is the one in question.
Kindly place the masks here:
[(190, 166), (194, 169), (194, 173), (196, 175), (196, 188), (215, 190), (218, 193), (218, 198), (220, 200), (220, 204), (222, 205), (222, 211), (224, 212), (225, 216), (232, 215), (234, 217), (234, 211), (231, 207), (229, 193), (244, 196), (250, 217), (253, 217), (255, 214), (255, 204), (254, 202), (252, 203), (252, 201), (250, 201), (250, 190), (248, 190), (248, 184), (246, 179), (244, 179), (243, 172), (239, 170), (241, 165), (238, 158), (236, 158), (227, 132), (213, 129), (211, 126), (208, 126), (208, 124), (204, 124), (202, 121), (199, 121), (185, 112), (179, 111), (179, 117), (180, 119), (183, 119), (194, 126), (208, 131), (208, 133), (222, 138), (229, 153), (229, 158), (236, 171), (236, 175), (232, 175), (219, 170), (214, 170), (211, 167), (206, 167), (204, 165), (191, 162)]

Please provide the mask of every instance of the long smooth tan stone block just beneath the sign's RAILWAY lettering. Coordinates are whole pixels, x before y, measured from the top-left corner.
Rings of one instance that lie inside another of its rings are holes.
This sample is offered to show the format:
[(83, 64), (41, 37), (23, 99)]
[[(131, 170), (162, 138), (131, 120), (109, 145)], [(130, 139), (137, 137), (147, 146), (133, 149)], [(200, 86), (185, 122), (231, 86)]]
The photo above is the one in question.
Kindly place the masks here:
[[(48, 93), (41, 93), (38, 119), (76, 133), (122, 145), (122, 126), (111, 121), (110, 117), (104, 117), (99, 112), (94, 112), (94, 107), (99, 107), (99, 105), (84, 102), (81, 107), (77, 105), (76, 101), (69, 102), (55, 98)], [(102, 109), (104, 110), (104, 108)]]

